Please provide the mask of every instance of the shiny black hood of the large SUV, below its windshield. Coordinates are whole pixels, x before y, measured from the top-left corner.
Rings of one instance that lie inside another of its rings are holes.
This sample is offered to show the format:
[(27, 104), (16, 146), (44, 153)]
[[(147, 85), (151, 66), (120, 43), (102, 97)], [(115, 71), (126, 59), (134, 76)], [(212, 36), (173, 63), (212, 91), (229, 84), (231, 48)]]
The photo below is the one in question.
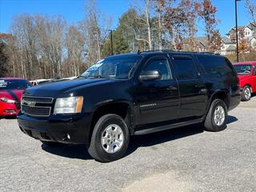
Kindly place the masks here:
[(50, 82), (26, 89), (26, 95), (42, 97), (60, 97), (71, 94), (74, 90), (84, 89), (88, 86), (97, 86), (103, 83), (114, 82), (110, 78), (78, 78), (70, 81)]

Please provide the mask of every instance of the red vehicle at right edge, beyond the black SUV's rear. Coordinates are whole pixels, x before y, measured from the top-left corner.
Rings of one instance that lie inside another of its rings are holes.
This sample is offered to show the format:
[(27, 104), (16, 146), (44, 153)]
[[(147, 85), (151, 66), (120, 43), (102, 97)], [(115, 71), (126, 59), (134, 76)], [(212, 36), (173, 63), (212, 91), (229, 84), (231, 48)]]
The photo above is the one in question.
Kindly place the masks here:
[(234, 63), (239, 85), (242, 89), (242, 101), (249, 101), (251, 94), (256, 92), (256, 61)]

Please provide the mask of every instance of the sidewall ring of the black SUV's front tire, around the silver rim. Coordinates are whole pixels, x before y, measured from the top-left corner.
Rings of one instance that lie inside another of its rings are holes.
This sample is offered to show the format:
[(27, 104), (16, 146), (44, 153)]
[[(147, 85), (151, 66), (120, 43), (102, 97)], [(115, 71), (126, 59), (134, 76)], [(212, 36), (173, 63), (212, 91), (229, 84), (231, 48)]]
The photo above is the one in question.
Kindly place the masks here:
[[(129, 134), (129, 130), (126, 126), (126, 122), (124, 122), (124, 120), (115, 114), (112, 115), (108, 115), (107, 117), (102, 117), (102, 119), (99, 119), (98, 122), (96, 123), (94, 129), (95, 129), (95, 133), (93, 134), (93, 137), (95, 137), (95, 150), (98, 154), (98, 157), (100, 159), (97, 160), (101, 160), (102, 162), (111, 162), (114, 160), (117, 160), (118, 158), (122, 158), (122, 156), (126, 153), (126, 150), (128, 148), (129, 145), (129, 141), (130, 141), (130, 134)], [(109, 126), (110, 124), (116, 124), (118, 126), (120, 126), (120, 128), (122, 129), (122, 133), (124, 136), (124, 141), (122, 144), (121, 149), (119, 149), (116, 153), (114, 154), (109, 154), (107, 153), (103, 147), (102, 147), (102, 132), (106, 129), (107, 126)]]

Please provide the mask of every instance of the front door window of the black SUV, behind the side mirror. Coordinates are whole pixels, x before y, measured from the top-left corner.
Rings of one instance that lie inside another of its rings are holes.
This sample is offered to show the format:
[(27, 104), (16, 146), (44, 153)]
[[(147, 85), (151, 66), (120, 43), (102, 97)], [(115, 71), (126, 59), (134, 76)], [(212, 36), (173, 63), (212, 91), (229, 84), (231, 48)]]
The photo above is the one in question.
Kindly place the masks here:
[(146, 64), (144, 71), (158, 70), (161, 74), (161, 80), (170, 80), (172, 75), (170, 73), (170, 66), (166, 59), (154, 59)]

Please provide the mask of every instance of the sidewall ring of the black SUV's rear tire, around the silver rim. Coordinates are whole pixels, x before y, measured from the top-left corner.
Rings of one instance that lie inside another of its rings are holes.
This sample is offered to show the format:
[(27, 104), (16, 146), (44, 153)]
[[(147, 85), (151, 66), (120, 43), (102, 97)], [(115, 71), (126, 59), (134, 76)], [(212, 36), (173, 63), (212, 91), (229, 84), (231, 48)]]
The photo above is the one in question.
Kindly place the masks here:
[[(224, 122), (220, 126), (218, 126), (214, 121), (214, 111), (217, 108), (217, 106), (222, 106), (223, 109), (224, 109), (224, 112), (225, 112)], [(211, 115), (211, 124), (212, 124), (212, 127), (213, 127), (214, 131), (224, 130), (226, 128), (227, 108), (226, 108), (225, 102), (223, 102), (221, 99), (214, 100), (214, 102), (212, 103), (212, 108), (211, 108), (211, 111), (210, 111), (210, 115)]]

